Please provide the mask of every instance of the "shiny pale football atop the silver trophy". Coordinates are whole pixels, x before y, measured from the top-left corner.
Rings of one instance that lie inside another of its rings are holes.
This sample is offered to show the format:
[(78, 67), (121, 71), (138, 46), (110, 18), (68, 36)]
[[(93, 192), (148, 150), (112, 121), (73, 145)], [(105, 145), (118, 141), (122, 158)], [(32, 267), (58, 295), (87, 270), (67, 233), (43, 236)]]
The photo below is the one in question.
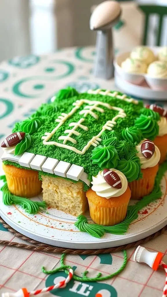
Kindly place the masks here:
[(104, 1), (93, 11), (90, 18), (91, 30), (103, 30), (105, 26), (112, 26), (121, 14), (121, 6), (117, 1)]

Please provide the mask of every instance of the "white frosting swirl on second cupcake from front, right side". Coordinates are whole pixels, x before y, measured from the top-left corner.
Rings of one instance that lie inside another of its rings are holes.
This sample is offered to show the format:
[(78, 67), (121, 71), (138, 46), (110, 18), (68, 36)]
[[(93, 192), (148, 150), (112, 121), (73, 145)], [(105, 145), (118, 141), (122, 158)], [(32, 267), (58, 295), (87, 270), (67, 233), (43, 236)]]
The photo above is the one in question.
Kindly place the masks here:
[[(146, 138), (144, 139), (146, 140)], [(160, 160), (160, 151), (157, 146), (155, 146), (155, 152), (151, 158), (146, 158), (141, 152), (141, 145), (144, 140), (141, 140), (141, 142), (136, 146), (136, 150), (138, 151), (137, 156), (140, 158), (141, 162), (141, 168), (149, 168), (154, 167), (158, 164)]]

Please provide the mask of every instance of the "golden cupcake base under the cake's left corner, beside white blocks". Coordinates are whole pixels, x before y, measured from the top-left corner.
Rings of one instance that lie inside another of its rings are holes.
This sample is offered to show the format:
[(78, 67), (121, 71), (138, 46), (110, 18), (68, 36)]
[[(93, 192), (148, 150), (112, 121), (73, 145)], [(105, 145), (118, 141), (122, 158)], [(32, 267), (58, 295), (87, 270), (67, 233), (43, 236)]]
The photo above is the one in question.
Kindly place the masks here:
[(42, 181), (38, 178), (38, 171), (4, 165), (3, 170), (10, 192), (20, 197), (34, 197), (42, 192)]

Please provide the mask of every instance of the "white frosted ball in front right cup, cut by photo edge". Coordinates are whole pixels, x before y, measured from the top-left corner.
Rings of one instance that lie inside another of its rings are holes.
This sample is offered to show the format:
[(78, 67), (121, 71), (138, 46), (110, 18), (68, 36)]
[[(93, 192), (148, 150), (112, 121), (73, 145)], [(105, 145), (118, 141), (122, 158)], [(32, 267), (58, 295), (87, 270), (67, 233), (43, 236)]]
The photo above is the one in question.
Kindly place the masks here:
[(163, 61), (155, 61), (149, 65), (147, 74), (152, 77), (167, 78), (167, 65)]

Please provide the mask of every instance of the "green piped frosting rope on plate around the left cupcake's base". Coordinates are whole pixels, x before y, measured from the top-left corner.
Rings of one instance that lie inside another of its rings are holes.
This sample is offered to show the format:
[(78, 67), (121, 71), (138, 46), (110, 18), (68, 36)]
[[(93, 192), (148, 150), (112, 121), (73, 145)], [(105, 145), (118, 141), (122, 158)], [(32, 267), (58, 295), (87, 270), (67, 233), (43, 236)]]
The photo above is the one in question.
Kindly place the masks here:
[(23, 198), (23, 197), (18, 197), (13, 195), (7, 187), (7, 182), (5, 181), (6, 177), (1, 176), (0, 179), (4, 181), (4, 185), (1, 187), (0, 190), (3, 192), (3, 203), (5, 205), (12, 205), (12, 204), (20, 205), (29, 214), (37, 214), (40, 208), (43, 208), (43, 209), (46, 208), (45, 201), (43, 202), (32, 201), (28, 198)]

